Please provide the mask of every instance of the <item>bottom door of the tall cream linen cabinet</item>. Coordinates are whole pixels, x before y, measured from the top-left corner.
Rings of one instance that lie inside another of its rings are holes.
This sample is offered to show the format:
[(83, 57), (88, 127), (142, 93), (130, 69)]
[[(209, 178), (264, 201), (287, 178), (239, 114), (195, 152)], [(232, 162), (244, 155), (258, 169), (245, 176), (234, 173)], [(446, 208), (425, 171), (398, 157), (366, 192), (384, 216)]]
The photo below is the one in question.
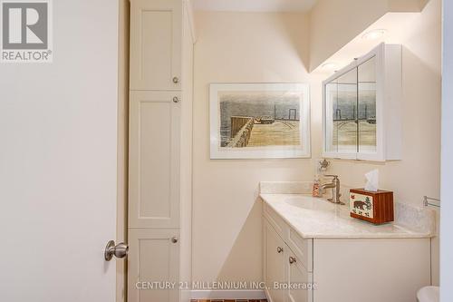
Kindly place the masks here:
[(128, 301), (179, 300), (178, 236), (175, 229), (129, 231)]

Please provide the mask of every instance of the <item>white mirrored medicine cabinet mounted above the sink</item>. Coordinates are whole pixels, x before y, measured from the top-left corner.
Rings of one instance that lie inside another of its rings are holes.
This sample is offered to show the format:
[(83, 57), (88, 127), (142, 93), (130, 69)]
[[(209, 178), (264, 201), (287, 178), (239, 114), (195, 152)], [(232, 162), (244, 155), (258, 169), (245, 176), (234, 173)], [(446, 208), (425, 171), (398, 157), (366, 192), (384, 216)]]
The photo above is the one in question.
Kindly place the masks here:
[(401, 45), (380, 44), (323, 82), (323, 157), (401, 159)]

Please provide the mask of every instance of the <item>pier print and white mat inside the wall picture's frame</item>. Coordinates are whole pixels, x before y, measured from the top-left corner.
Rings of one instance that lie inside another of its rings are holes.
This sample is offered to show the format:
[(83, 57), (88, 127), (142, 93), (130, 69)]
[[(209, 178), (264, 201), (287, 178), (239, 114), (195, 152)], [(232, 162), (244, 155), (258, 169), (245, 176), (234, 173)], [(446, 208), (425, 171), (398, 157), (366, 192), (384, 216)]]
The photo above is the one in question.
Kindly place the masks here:
[[(292, 91), (285, 84), (256, 84), (256, 89), (254, 84), (236, 85), (242, 89), (220, 89), (215, 95), (211, 92), (211, 98), (215, 97), (211, 106), (217, 108), (211, 114), (218, 119), (215, 131), (219, 151), (297, 150), (308, 146), (305, 90)], [(260, 90), (262, 85), (267, 85), (266, 89)], [(275, 90), (269, 85), (275, 85)]]

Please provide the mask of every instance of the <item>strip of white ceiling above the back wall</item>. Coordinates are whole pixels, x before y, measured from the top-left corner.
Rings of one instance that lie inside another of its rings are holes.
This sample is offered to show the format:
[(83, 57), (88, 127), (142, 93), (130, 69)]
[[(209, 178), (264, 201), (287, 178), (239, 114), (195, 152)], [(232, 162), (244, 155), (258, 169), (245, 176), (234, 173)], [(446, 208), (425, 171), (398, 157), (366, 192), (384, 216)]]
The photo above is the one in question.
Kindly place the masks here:
[(193, 0), (196, 10), (229, 12), (306, 12), (317, 0)]

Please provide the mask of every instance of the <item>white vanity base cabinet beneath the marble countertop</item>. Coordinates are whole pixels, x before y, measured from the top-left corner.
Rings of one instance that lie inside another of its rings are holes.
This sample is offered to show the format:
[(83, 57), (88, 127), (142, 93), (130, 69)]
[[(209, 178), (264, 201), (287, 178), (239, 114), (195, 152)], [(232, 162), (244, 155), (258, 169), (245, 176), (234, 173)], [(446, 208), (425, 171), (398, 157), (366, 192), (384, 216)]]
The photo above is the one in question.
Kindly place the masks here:
[(264, 202), (265, 293), (270, 302), (413, 302), (417, 290), (430, 285), (429, 242), (383, 235), (303, 238)]

